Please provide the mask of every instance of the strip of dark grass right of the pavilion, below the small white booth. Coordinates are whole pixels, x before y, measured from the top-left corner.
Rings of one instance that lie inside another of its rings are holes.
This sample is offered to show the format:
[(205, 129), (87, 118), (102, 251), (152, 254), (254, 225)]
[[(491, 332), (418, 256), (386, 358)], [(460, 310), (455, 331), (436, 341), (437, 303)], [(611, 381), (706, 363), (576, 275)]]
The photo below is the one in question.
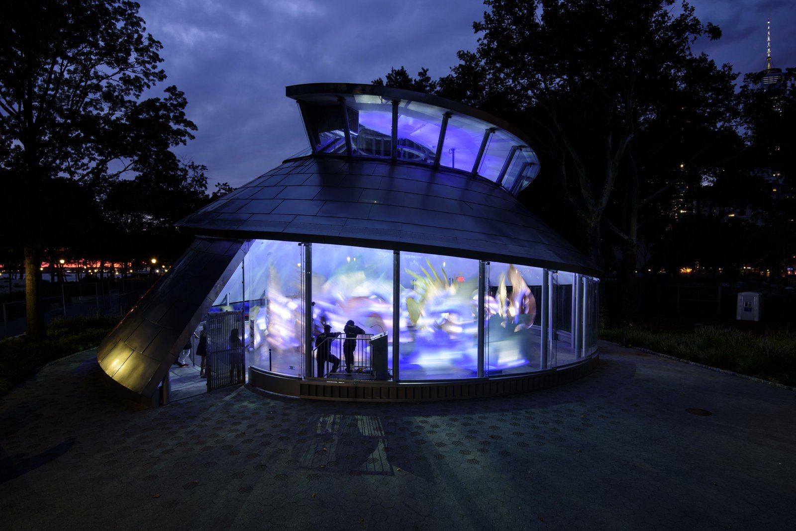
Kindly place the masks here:
[[(600, 338), (622, 343), (622, 329), (601, 330)], [(796, 335), (791, 332), (768, 332), (761, 336), (720, 326), (699, 328), (693, 333), (628, 328), (627, 343), (718, 369), (796, 386)]]

